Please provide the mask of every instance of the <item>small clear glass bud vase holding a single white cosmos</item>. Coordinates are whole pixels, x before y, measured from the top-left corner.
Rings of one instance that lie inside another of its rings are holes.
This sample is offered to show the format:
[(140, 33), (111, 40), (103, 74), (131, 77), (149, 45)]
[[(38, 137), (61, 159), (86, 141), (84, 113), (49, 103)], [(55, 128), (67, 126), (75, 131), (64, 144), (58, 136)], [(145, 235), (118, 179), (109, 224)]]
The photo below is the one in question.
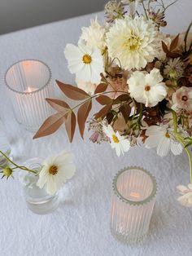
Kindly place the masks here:
[[(41, 168), (42, 160), (40, 158), (33, 158), (24, 163), (24, 166), (31, 170), (38, 170)], [(37, 183), (38, 176), (20, 171), (20, 182), (24, 188), (24, 198), (28, 209), (33, 211), (34, 214), (48, 214), (59, 206), (59, 192), (55, 195), (47, 194), (45, 188), (38, 188)]]

